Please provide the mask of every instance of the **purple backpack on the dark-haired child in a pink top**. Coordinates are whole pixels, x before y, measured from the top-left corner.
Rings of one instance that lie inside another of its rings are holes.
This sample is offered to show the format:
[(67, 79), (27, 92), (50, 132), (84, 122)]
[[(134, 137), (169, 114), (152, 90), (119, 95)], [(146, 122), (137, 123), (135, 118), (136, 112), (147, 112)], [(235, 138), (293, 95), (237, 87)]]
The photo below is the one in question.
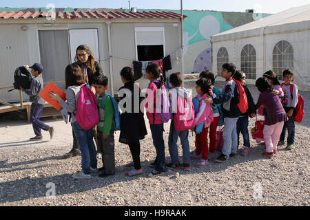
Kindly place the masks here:
[(152, 83), (154, 83), (158, 89), (161, 89), (161, 104), (154, 103), (154, 122), (155, 112), (158, 113), (159, 118), (161, 118), (164, 123), (168, 122), (169, 119), (172, 118), (171, 104), (168, 99), (168, 89), (165, 85), (162, 85), (159, 80), (155, 80)]

